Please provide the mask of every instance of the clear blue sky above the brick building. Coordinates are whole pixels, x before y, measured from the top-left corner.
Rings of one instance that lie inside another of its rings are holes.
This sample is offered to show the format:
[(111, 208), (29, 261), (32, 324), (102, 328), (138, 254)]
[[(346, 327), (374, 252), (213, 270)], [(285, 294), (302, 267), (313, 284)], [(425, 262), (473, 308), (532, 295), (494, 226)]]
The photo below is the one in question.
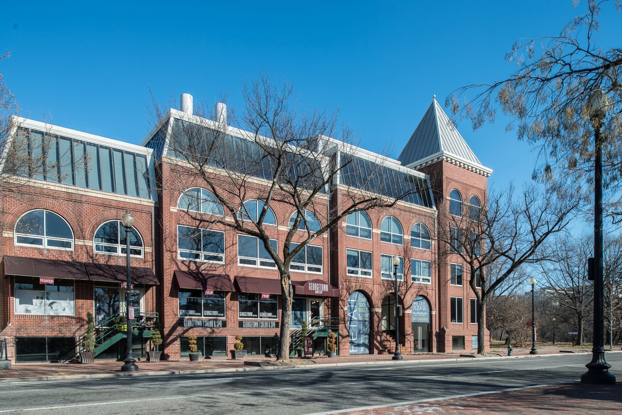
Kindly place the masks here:
[[(430, 105), (470, 82), (507, 77), (503, 60), (520, 37), (558, 34), (585, 1), (5, 2), (0, 73), (30, 118), (139, 143), (156, 98), (187, 92), (241, 107), (243, 78), (263, 69), (295, 82), (300, 100), (338, 106), (342, 121), (378, 151), (399, 151)], [(269, 6), (264, 4), (270, 3)], [(622, 16), (605, 6), (601, 42), (622, 39)], [(619, 46), (619, 45), (618, 45)], [(529, 180), (534, 154), (503, 119), (458, 129), (491, 180)]]

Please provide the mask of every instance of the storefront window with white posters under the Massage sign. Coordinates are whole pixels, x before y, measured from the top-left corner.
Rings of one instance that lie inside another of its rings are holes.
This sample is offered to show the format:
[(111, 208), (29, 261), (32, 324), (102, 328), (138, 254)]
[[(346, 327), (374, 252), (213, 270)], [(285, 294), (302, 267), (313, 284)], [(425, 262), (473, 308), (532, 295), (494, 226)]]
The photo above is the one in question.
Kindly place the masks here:
[(73, 283), (57, 281), (57, 285), (52, 285), (18, 280), (15, 283), (15, 314), (75, 315)]

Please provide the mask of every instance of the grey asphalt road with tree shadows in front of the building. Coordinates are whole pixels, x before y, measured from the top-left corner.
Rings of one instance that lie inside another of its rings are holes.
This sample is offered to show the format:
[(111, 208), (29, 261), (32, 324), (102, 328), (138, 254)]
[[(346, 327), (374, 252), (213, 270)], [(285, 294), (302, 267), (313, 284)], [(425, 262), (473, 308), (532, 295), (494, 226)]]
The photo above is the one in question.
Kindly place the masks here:
[[(606, 355), (622, 381), (622, 353)], [(294, 415), (578, 380), (588, 355), (0, 384), (0, 414)]]

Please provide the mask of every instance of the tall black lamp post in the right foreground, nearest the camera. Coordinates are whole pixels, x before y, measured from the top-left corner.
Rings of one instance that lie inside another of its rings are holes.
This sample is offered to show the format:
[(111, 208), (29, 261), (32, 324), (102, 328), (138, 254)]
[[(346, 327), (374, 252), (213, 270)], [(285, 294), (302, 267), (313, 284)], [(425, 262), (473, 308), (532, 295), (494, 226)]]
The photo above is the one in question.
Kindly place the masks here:
[(600, 89), (592, 91), (587, 101), (590, 122), (594, 128), (594, 335), (592, 361), (585, 365), (581, 383), (588, 385), (615, 385), (616, 376), (610, 373), (605, 361), (605, 322), (603, 292), (603, 161), (600, 129), (609, 109), (609, 97)]

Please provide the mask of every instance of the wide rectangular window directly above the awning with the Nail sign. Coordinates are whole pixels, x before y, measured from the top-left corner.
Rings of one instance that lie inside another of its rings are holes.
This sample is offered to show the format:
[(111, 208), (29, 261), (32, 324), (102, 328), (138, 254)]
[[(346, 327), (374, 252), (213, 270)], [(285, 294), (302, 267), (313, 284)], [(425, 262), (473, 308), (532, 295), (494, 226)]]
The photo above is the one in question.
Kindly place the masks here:
[(177, 225), (180, 259), (225, 263), (225, 232)]

